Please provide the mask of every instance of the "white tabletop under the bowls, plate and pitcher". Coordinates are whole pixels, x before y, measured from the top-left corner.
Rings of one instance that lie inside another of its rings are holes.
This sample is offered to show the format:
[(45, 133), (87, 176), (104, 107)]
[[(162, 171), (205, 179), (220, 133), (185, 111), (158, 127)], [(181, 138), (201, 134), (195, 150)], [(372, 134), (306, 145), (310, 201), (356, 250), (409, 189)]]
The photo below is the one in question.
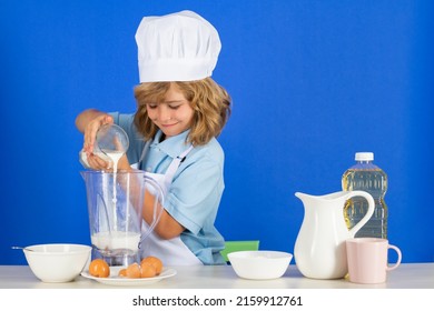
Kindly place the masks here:
[[(275, 280), (245, 280), (238, 278), (230, 265), (171, 267), (177, 274), (152, 284), (152, 289), (434, 289), (434, 262), (403, 263), (388, 272), (381, 284), (355, 284), (345, 279), (314, 280), (304, 278), (296, 265)], [(0, 265), (0, 289), (106, 289), (114, 285), (78, 277), (68, 283), (43, 283), (28, 265)], [(115, 287), (116, 288), (116, 287)]]

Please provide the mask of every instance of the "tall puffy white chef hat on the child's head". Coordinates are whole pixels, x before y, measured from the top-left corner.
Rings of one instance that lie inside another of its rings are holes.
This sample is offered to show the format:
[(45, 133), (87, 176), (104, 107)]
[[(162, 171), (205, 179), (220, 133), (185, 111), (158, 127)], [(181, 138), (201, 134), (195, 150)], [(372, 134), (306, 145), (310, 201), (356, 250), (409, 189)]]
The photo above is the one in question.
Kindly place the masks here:
[(210, 77), (221, 49), (217, 30), (191, 11), (142, 18), (136, 42), (140, 82)]

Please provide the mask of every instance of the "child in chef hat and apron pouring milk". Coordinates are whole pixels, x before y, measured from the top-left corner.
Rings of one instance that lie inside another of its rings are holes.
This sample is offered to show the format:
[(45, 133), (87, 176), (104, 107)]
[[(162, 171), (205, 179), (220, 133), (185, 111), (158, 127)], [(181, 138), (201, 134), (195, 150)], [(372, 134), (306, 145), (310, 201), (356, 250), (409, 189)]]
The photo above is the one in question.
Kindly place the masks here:
[[(110, 170), (93, 154), (96, 132), (106, 123), (122, 127), (130, 147), (118, 169), (146, 171), (166, 194), (162, 215), (141, 243), (142, 258), (155, 255), (166, 265), (224, 264), (224, 239), (214, 225), (225, 187), (216, 138), (229, 118), (230, 97), (210, 78), (221, 49), (218, 32), (197, 13), (181, 11), (145, 17), (136, 41), (136, 113), (89, 109), (77, 117), (87, 164)], [(145, 203), (144, 228), (151, 208)]]

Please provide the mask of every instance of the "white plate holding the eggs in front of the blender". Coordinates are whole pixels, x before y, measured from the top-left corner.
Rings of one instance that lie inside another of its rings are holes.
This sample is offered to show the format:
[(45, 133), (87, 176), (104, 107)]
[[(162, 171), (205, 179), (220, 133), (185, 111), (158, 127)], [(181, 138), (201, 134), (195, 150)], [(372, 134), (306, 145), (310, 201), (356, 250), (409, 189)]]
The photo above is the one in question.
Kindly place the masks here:
[(176, 274), (176, 270), (171, 268), (162, 268), (161, 273), (158, 277), (154, 278), (140, 278), (140, 279), (128, 279), (118, 277), (119, 270), (125, 267), (110, 267), (110, 277), (108, 278), (97, 278), (89, 274), (89, 271), (81, 272), (81, 277), (90, 280), (95, 280), (102, 284), (116, 285), (116, 287), (139, 287), (154, 284), (161, 281), (162, 279), (171, 278)]

